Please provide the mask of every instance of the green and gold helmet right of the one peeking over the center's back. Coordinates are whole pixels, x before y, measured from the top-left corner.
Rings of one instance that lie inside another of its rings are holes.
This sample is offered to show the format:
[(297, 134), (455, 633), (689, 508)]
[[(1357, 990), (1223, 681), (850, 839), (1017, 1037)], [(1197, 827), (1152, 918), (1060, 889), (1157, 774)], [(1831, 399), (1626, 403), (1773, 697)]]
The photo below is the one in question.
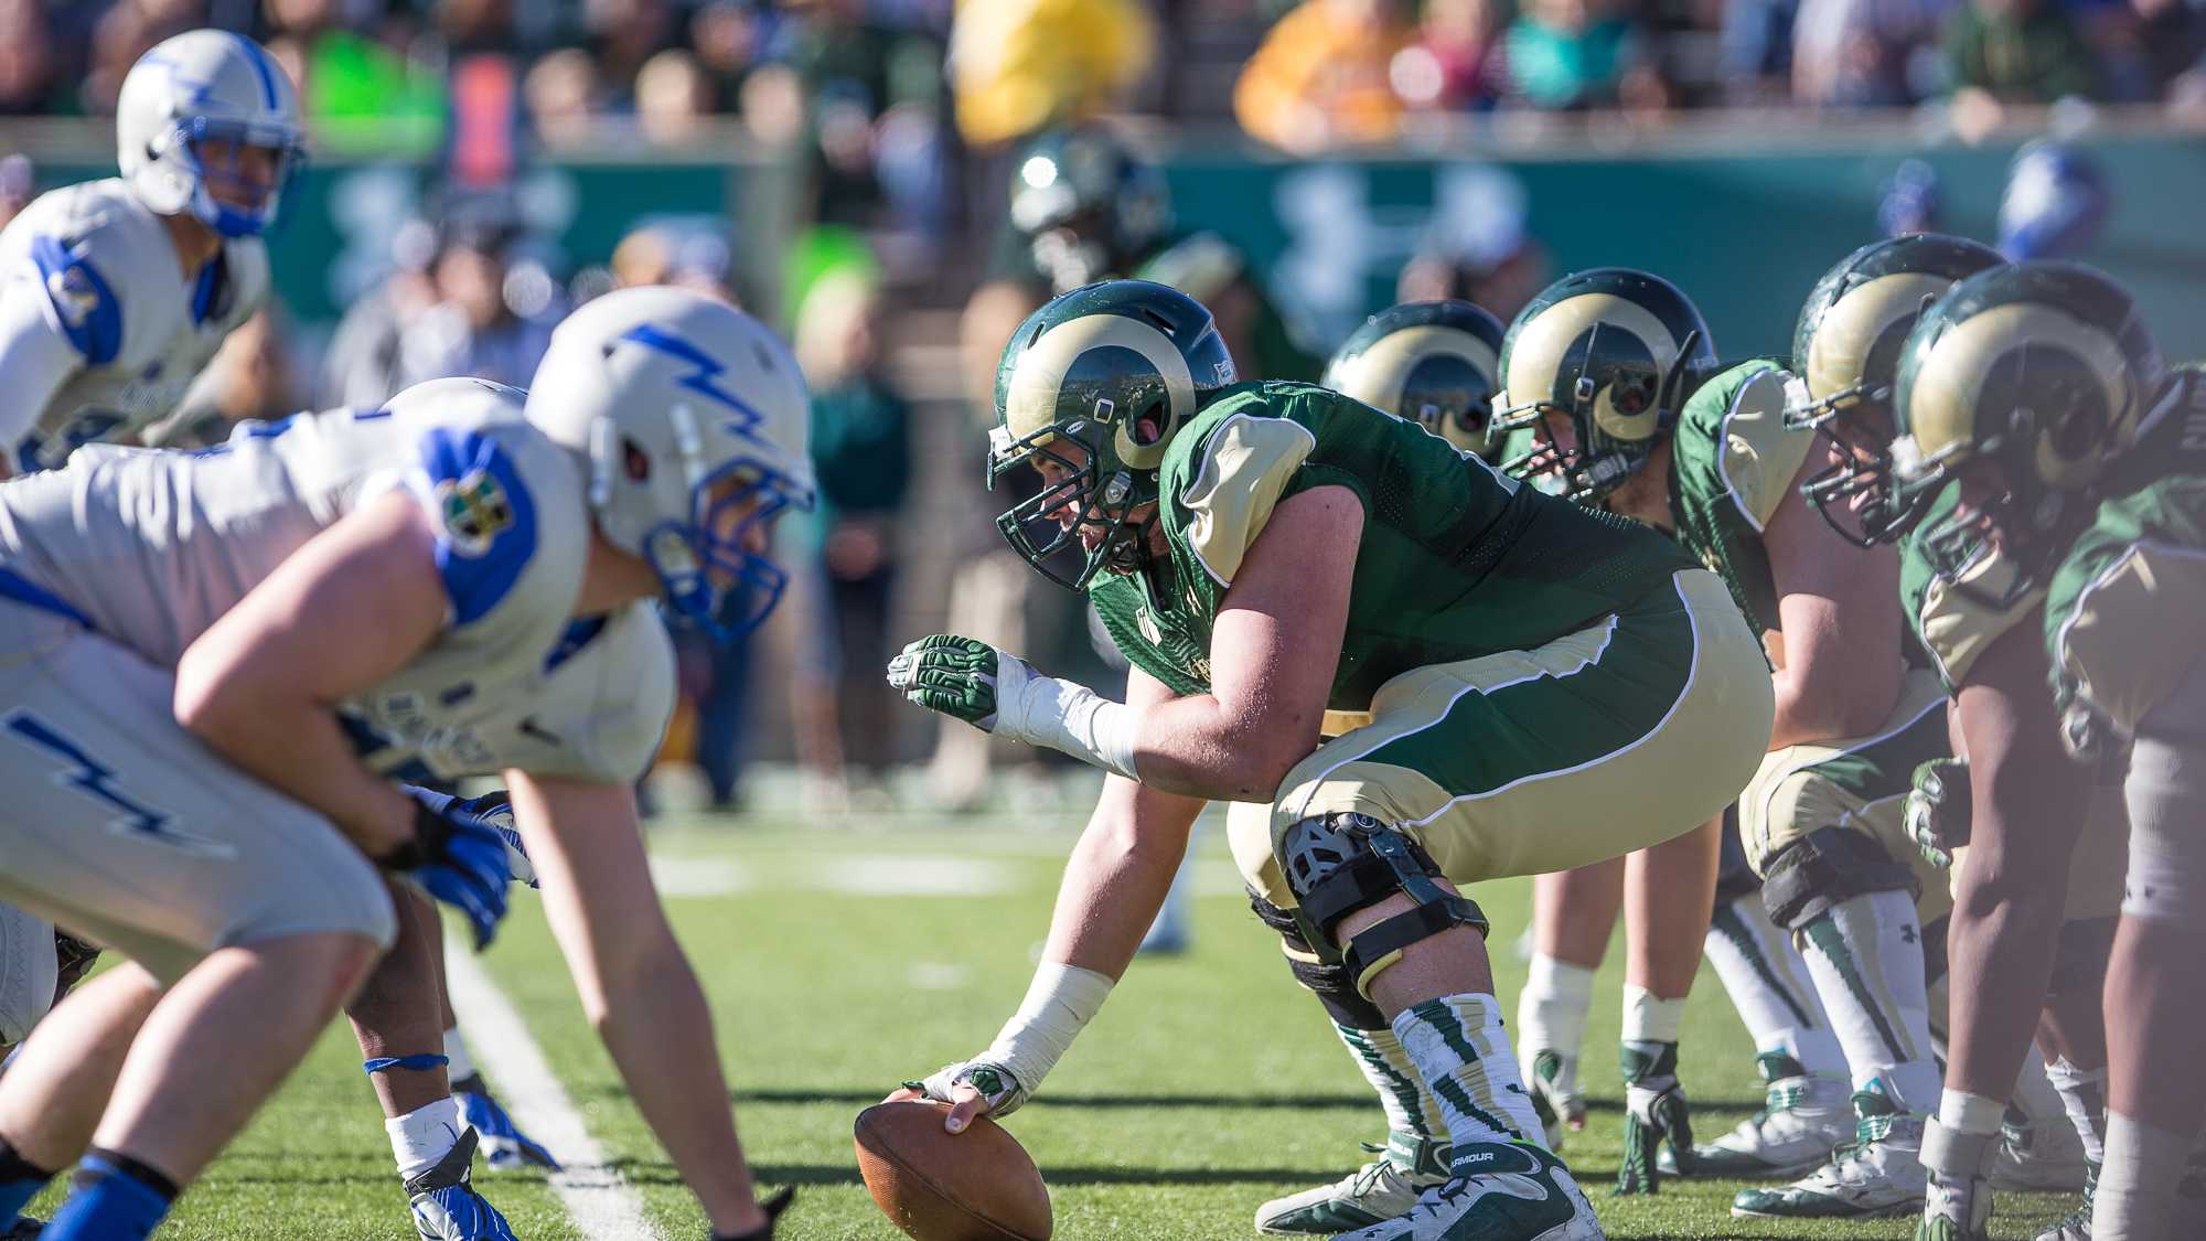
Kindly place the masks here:
[[(1533, 450), (1502, 468), (1555, 475), (1562, 495), (1599, 503), (1646, 464), (1714, 371), (1707, 322), (1670, 280), (1630, 267), (1564, 276), (1518, 311), (1502, 340), (1491, 433), (1535, 433)], [(1568, 444), (1555, 417), (1568, 420)]]

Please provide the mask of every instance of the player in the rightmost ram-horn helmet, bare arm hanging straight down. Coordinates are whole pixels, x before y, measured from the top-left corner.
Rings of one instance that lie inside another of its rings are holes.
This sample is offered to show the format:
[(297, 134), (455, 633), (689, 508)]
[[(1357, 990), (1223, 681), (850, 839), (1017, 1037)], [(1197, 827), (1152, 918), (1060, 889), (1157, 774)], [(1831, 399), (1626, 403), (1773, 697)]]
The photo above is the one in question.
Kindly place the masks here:
[[(2076, 927), (2089, 932), (2109, 912), (2100, 905), (2105, 879), (2120, 877), (2122, 850), (2118, 837), (2093, 832), (2109, 821), (2118, 830), (2120, 817), (2091, 810), (2098, 773), (2074, 762), (2060, 740), (2043, 640), (2052, 623), (2047, 583), (2105, 495), (2091, 488), (2116, 479), (2107, 466), (2113, 450), (2149, 426), (2160, 433), (2151, 444), (2177, 459), (2188, 391), (2188, 380), (2168, 373), (2129, 296), (2098, 272), (2060, 263), (1990, 269), (1924, 311), (1899, 358), (1897, 424), (1853, 422), (1844, 431), (1853, 459), (1822, 488), (1824, 508), (1851, 503), (1866, 537), (1904, 539), (1902, 596), (1955, 691), (1957, 751), (1966, 760), (1941, 773), (1966, 784), (1966, 793), (1943, 791), (1941, 802), (1963, 810), (1966, 830), (1943, 839), (1966, 839), (1968, 855), (1957, 859), (1950, 1062), (1924, 1135), (1930, 1184), (1917, 1237), (1983, 1237), (1992, 1208), (1985, 1168), (2038, 1003), (2074, 987), (2065, 976), (2089, 974), (2076, 958), (2096, 956), (2091, 936)], [(2131, 477), (2142, 484), (2149, 473)], [(2069, 598), (2069, 614), (2074, 607)], [(2162, 689), (2182, 680), (2182, 667), (2168, 671)], [(2135, 804), (2166, 824), (2162, 795)], [(2109, 996), (2113, 985), (2109, 978)], [(2129, 1014), (2107, 1031), (2127, 1025)], [(2071, 1075), (2087, 1078), (2063, 1073)], [(2065, 1082), (2063, 1093), (2076, 1086)], [(2155, 1080), (2153, 1089), (2166, 1095), (2166, 1086)], [(2116, 1095), (2116, 1111), (2124, 1106), (2171, 1115), (2135, 1089)], [(2188, 1124), (2186, 1113), (2175, 1128)], [(2107, 1128), (2109, 1162), (2124, 1144), (2135, 1150), (2135, 1128), (2124, 1128), (2120, 1144), (2111, 1117)], [(2175, 1164), (2186, 1150), (2188, 1142), (2168, 1144)], [(2124, 1197), (2133, 1188), (2118, 1184)], [(2080, 1234), (2089, 1232), (2071, 1219), (2047, 1237)]]

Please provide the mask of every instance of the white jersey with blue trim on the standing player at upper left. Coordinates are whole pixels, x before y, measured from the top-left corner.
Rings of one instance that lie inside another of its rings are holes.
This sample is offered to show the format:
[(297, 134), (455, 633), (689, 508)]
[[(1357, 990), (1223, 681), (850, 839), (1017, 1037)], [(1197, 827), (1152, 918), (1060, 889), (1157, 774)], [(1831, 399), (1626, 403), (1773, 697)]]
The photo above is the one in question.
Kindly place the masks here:
[[(269, 298), (258, 236), (223, 243), (196, 280), (161, 216), (119, 179), (40, 194), (0, 230), (0, 298), (35, 298), (84, 364), (7, 444), (15, 473), (60, 468), (82, 444), (168, 417), (240, 322)], [(4, 393), (0, 393), (4, 400)]]

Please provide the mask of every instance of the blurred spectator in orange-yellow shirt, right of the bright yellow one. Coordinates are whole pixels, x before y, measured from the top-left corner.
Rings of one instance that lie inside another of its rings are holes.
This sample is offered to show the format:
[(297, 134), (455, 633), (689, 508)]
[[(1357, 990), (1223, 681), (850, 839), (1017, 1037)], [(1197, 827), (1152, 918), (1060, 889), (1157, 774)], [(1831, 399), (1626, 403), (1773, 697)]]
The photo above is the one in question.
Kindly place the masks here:
[(1233, 115), (1286, 150), (1390, 141), (1403, 108), (1388, 66), (1407, 42), (1392, 0), (1304, 0), (1242, 66)]

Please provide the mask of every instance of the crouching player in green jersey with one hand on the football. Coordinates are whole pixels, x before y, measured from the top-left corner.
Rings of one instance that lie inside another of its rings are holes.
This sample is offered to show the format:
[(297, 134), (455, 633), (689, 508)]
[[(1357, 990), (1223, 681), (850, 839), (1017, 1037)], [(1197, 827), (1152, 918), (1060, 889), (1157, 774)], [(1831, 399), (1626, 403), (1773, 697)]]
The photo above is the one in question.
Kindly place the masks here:
[[(1348, 1201), (1335, 1228), (1599, 1237), (1542, 1144), (1458, 885), (1643, 848), (1745, 784), (1769, 678), (1721, 581), (1339, 393), (1235, 384), (1209, 311), (1163, 285), (1052, 300), (997, 393), (990, 479), (1046, 484), (997, 523), (1094, 598), (1136, 671), (1110, 702), (960, 636), (891, 662), (913, 702), (1112, 773), (1019, 1014), (898, 1095), (951, 1100), (953, 1131), (1026, 1102), (1125, 969), (1193, 817), (1240, 802), (1233, 855), (1297, 974), (1370, 1036), (1374, 1084), (1423, 1086), (1452, 1139), (1449, 1179), (1407, 1212)], [(1328, 711), (1359, 726), (1326, 740)]]

